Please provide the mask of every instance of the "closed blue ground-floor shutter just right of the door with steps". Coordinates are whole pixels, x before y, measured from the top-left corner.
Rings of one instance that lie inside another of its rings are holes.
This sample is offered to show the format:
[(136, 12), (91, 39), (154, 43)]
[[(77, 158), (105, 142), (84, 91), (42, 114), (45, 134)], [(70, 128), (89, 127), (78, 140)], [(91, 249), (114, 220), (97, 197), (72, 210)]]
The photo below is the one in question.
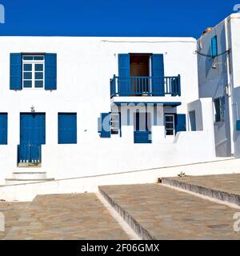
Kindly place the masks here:
[(58, 144), (77, 143), (77, 114), (58, 113)]

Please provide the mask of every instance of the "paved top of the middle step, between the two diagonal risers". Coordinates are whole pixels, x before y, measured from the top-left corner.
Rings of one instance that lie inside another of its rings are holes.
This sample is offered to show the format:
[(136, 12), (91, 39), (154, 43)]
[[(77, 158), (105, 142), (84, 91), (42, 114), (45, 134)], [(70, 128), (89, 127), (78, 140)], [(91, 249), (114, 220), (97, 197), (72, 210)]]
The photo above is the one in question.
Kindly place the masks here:
[(159, 184), (102, 186), (156, 239), (240, 239), (233, 216), (240, 210)]

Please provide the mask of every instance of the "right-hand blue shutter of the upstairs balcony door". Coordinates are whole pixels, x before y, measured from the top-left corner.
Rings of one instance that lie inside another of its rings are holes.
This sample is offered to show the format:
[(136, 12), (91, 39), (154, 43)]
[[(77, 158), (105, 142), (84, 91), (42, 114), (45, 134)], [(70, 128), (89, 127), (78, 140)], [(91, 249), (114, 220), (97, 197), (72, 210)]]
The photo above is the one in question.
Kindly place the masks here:
[(163, 54), (152, 55), (152, 90), (154, 96), (164, 96), (164, 61)]

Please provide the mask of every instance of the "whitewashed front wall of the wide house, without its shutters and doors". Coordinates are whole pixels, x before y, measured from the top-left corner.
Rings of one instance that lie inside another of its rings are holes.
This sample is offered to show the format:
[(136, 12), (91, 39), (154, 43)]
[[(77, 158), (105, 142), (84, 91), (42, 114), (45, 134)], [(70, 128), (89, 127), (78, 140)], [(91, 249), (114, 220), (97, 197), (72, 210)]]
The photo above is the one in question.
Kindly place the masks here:
[[(110, 42), (109, 42), (110, 41)], [(163, 53), (165, 75), (181, 74), (182, 106), (198, 98), (198, 70), (194, 38), (61, 38), (61, 37), (1, 37), (0, 38), (0, 112), (8, 113), (8, 145), (0, 146), (0, 183), (17, 167), (20, 112), (46, 112), (46, 145), (42, 146), (42, 171), (49, 177), (70, 178), (119, 170), (206, 161), (214, 158), (214, 146), (207, 150), (202, 135), (185, 135), (190, 151), (179, 154), (178, 145), (158, 136), (154, 127), (154, 143), (134, 145), (133, 127), (123, 127), (123, 139), (99, 138), (98, 116), (110, 111), (110, 78), (118, 74), (119, 53)], [(46, 52), (58, 54), (58, 89), (10, 90), (10, 53)], [(78, 113), (78, 144), (58, 145), (58, 112)], [(162, 117), (163, 118), (163, 117)], [(192, 138), (194, 136), (194, 138)], [(192, 141), (194, 140), (194, 141)], [(199, 143), (198, 146), (195, 146)], [(26, 169), (21, 169), (26, 170)], [(30, 169), (28, 169), (30, 170)], [(34, 168), (31, 171), (37, 170)]]

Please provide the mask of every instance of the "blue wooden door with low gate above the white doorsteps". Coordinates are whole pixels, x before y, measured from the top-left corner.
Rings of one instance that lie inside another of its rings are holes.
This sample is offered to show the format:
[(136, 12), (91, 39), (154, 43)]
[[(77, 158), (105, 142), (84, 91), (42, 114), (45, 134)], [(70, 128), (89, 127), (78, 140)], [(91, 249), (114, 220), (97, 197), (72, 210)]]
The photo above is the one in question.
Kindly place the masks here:
[(19, 162), (41, 162), (41, 145), (46, 143), (46, 118), (44, 113), (20, 115)]

